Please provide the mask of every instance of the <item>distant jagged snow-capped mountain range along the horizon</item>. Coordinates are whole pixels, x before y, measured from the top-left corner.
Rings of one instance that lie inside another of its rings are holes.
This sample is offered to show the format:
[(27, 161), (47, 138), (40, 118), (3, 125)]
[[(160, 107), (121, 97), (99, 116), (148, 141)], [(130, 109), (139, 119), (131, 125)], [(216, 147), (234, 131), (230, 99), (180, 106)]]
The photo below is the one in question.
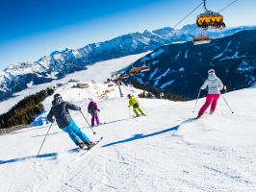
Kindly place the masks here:
[[(246, 29), (255, 29), (255, 27), (232, 28), (208, 34), (215, 38), (230, 36)], [(23, 90), (31, 84), (51, 82), (74, 71), (84, 70), (97, 61), (143, 53), (172, 42), (188, 41), (200, 33), (195, 25), (184, 26), (181, 30), (166, 27), (152, 32), (144, 31), (118, 36), (77, 50), (66, 48), (64, 51), (55, 51), (34, 63), (13, 64), (0, 73), (0, 100), (10, 97), (13, 92)]]

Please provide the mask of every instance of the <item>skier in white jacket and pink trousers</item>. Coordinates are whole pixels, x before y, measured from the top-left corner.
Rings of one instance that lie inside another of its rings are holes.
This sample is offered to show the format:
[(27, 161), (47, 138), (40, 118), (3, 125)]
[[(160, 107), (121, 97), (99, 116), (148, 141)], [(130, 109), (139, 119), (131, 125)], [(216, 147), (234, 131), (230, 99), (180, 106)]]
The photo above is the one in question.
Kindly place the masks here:
[(203, 115), (204, 111), (210, 105), (211, 105), (211, 109), (210, 109), (211, 114), (213, 114), (216, 109), (220, 90), (223, 89), (223, 84), (216, 76), (216, 72), (214, 69), (210, 69), (208, 71), (208, 79), (201, 86), (201, 89), (205, 89), (207, 86), (208, 86), (208, 94), (206, 96), (206, 101), (205, 101), (204, 105), (202, 106), (202, 108), (200, 108), (196, 118), (201, 117)]

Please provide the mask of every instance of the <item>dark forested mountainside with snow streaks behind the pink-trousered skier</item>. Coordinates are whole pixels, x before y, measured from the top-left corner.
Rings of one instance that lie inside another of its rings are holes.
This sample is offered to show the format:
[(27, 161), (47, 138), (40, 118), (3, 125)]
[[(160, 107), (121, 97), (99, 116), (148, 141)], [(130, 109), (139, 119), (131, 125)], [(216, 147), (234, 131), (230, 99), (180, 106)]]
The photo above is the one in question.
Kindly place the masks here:
[(195, 98), (207, 71), (215, 68), (229, 91), (249, 87), (256, 84), (255, 47), (256, 30), (217, 38), (204, 45), (194, 46), (192, 42), (165, 45), (132, 65), (145, 63), (151, 68), (150, 72), (133, 78), (142, 84)]

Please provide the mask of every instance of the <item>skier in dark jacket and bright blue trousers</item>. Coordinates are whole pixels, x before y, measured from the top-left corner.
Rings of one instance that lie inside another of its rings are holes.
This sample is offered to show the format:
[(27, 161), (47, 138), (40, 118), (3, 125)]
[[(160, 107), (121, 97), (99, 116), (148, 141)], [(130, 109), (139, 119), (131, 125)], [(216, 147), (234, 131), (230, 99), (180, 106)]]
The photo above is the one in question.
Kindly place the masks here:
[(77, 127), (77, 125), (71, 118), (68, 109), (81, 110), (81, 108), (75, 105), (64, 102), (61, 94), (57, 93), (54, 95), (54, 100), (52, 101), (52, 108), (47, 115), (47, 119), (51, 123), (53, 123), (54, 116), (59, 128), (62, 129), (64, 132), (67, 132), (72, 141), (81, 149), (84, 149), (85, 146), (88, 146), (88, 148), (92, 148), (95, 143), (90, 141), (90, 138), (84, 132), (81, 132), (80, 128)]

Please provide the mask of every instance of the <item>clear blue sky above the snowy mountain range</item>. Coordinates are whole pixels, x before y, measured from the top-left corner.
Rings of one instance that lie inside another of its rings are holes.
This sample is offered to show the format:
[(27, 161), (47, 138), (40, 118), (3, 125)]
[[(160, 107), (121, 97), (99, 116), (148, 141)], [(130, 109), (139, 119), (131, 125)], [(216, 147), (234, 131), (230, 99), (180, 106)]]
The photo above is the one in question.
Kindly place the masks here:
[[(233, 0), (208, 0), (218, 12)], [(133, 32), (173, 27), (201, 0), (0, 0), (0, 69)], [(228, 27), (256, 25), (256, 1), (221, 12)], [(177, 28), (195, 22), (199, 8)]]

